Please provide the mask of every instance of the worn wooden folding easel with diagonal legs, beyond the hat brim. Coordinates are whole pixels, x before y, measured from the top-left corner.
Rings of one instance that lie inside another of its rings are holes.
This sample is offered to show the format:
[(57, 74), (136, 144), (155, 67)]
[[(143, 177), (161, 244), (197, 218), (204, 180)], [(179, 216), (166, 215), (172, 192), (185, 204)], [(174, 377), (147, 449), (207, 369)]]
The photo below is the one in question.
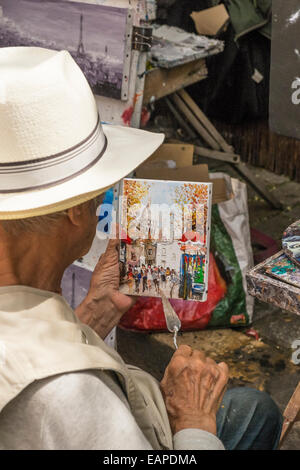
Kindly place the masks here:
[[(164, 99), (171, 113), (184, 129), (195, 146), (195, 154), (229, 163), (235, 171), (274, 209), (282, 204), (256, 178), (252, 171), (241, 162), (215, 126), (186, 92), (185, 88), (207, 79), (205, 59), (197, 59), (172, 68), (156, 67), (147, 72), (144, 89), (144, 105)], [(203, 141), (208, 147), (203, 146)]]

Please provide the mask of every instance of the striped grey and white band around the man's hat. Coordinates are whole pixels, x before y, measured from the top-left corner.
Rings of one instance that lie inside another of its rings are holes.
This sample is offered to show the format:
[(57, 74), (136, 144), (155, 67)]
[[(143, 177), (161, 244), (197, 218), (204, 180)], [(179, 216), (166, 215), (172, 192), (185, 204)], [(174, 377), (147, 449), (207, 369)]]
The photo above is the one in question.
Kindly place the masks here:
[(42, 189), (70, 180), (95, 165), (106, 147), (98, 117), (93, 132), (64, 152), (26, 162), (0, 163), (0, 193)]

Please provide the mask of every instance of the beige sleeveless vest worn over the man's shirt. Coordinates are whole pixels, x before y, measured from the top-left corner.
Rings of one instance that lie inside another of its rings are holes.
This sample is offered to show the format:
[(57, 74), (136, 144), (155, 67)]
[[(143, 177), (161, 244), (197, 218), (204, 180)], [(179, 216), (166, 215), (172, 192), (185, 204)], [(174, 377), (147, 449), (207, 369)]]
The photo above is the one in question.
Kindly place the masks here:
[(36, 380), (88, 369), (114, 373), (153, 449), (173, 449), (158, 382), (127, 366), (65, 300), (24, 286), (0, 288), (0, 412)]

